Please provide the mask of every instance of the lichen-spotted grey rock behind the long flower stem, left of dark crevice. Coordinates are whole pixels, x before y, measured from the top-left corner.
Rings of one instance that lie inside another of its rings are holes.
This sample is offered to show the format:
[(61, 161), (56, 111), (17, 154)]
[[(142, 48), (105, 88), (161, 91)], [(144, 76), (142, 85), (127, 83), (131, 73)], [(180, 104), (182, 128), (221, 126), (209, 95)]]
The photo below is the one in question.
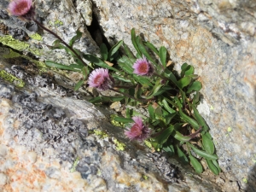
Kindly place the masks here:
[[(90, 26), (92, 20), (91, 2), (89, 0), (76, 1), (75, 4), (72, 0), (33, 2), (36, 6), (36, 19), (41, 22), (41, 24), (55, 32), (67, 43), (79, 30), (83, 35), (82, 38), (74, 44), (74, 48), (84, 53), (96, 54), (99, 52), (99, 48), (86, 28), (86, 26)], [(33, 54), (41, 60), (51, 60), (63, 64), (74, 62), (73, 57), (67, 55), (64, 50), (49, 49), (56, 40), (52, 34), (45, 31), (43, 32), (33, 21), (27, 23), (16, 17), (9, 16), (6, 10), (8, 4), (9, 0), (2, 0), (0, 2), (1, 24), (8, 28), (8, 35), (12, 35), (15, 39), (26, 41), (29, 47), (21, 49), (23, 52), (32, 52), (31, 50), (33, 49)], [(3, 26), (0, 28), (3, 29)], [(1, 29), (0, 34), (6, 35)], [(38, 33), (42, 39), (31, 38), (35, 33)]]

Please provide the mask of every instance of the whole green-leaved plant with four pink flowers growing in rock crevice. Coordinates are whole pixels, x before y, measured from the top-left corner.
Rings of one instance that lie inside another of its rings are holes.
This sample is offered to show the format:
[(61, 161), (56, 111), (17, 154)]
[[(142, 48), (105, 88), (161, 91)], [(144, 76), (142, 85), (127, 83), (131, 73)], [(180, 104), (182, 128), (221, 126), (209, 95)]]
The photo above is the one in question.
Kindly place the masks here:
[[(55, 35), (54, 49), (65, 49), (67, 54), (73, 56), (75, 63), (68, 66), (55, 61), (45, 63), (49, 67), (83, 73), (83, 79), (74, 90), (79, 90), (87, 82), (99, 92), (99, 96), (93, 97), (90, 102), (121, 102), (124, 106), (148, 110), (148, 115), (143, 115), (126, 108), (125, 117), (114, 118), (125, 124), (126, 137), (138, 142), (150, 142), (154, 149), (164, 150), (170, 155), (177, 154), (183, 161), (190, 162), (195, 172), (203, 172), (199, 159), (206, 160), (214, 174), (221, 172), (209, 128), (196, 108), (200, 102), (201, 82), (197, 80), (194, 67), (183, 63), (181, 73), (177, 75), (167, 60), (166, 48), (155, 48), (137, 36), (134, 29), (131, 30), (131, 42), (136, 55), (123, 41), (109, 50), (102, 44), (100, 57), (84, 54), (73, 48), (73, 44), (81, 38), (81, 32), (77, 32), (66, 44), (55, 32), (35, 20), (34, 12), (32, 0), (14, 0), (9, 5), (11, 15), (34, 20), (38, 26)], [(120, 48), (124, 50), (123, 55), (119, 54)], [(85, 64), (82, 58), (90, 61), (90, 65)], [(116, 95), (103, 95), (104, 90), (114, 91)]]

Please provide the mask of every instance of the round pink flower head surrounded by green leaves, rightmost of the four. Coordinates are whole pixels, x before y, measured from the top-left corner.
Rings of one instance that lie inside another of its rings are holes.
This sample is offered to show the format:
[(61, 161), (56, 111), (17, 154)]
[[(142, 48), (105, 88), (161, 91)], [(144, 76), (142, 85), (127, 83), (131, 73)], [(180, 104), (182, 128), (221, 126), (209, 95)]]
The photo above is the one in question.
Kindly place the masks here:
[(133, 64), (132, 68), (134, 68), (133, 73), (137, 75), (151, 75), (154, 71), (153, 66), (146, 57), (143, 55), (143, 58), (137, 59), (137, 61)]

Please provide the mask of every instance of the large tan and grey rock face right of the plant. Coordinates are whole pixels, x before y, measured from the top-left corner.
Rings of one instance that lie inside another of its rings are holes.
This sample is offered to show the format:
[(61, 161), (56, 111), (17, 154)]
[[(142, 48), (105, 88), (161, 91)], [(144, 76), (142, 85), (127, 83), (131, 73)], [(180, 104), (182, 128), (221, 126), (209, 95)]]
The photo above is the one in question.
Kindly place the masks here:
[(134, 27), (156, 47), (166, 46), (177, 69), (183, 62), (195, 67), (203, 84), (200, 110), (211, 128), (218, 162), (241, 189), (256, 189), (255, 1), (93, 2), (110, 40), (124, 39), (132, 47)]

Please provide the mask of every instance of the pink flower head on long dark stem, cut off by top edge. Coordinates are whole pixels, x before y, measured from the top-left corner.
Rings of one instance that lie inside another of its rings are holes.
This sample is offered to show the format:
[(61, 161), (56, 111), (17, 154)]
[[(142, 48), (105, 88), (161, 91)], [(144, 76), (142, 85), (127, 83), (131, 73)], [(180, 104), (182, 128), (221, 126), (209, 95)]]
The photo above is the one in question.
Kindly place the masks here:
[(21, 19), (32, 20), (35, 9), (32, 0), (13, 0), (9, 3), (8, 11), (10, 15), (19, 16)]

